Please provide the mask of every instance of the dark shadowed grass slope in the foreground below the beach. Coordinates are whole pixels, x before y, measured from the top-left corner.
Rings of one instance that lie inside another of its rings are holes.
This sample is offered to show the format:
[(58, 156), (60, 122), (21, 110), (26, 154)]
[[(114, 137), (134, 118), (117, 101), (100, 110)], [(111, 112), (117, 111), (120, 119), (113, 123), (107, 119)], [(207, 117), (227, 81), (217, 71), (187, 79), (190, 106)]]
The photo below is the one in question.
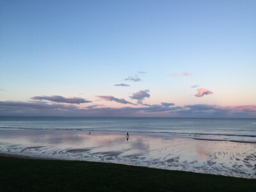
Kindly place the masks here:
[(256, 191), (255, 179), (0, 156), (0, 191)]

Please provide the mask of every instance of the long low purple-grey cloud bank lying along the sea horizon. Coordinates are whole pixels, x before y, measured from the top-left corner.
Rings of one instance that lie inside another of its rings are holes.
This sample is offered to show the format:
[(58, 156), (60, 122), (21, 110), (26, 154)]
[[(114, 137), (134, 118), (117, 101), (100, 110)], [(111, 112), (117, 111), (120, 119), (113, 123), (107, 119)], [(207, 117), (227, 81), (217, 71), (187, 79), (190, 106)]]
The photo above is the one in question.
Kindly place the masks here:
[[(173, 106), (172, 103), (143, 107), (106, 108), (98, 104), (79, 108), (75, 104), (49, 104), (33, 101), (0, 101), (0, 116), (165, 116), (255, 118), (256, 105), (218, 106), (194, 104)], [(173, 107), (172, 107), (173, 106)]]

